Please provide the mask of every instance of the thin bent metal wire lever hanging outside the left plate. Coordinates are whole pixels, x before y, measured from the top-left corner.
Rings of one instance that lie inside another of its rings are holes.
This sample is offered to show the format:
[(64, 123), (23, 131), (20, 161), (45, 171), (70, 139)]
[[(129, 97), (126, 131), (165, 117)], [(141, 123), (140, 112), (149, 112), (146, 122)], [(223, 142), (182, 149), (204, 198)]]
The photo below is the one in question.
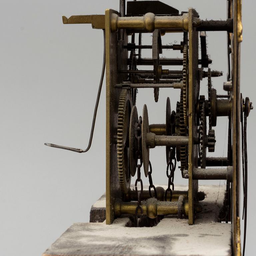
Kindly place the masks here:
[(101, 93), (101, 88), (102, 88), (104, 73), (105, 73), (105, 66), (106, 66), (105, 29), (103, 29), (103, 37), (104, 37), (103, 65), (102, 65), (101, 78), (100, 78), (100, 84), (99, 84), (96, 104), (95, 104), (94, 113), (93, 113), (92, 128), (91, 128), (91, 134), (90, 134), (88, 147), (83, 150), (83, 149), (80, 149), (80, 148), (60, 146), (60, 145), (51, 144), (51, 143), (44, 143), (44, 145), (49, 146), (49, 147), (53, 147), (53, 148), (66, 149), (66, 150), (74, 151), (74, 152), (77, 152), (77, 153), (84, 153), (84, 152), (87, 152), (90, 149), (91, 144), (92, 144), (92, 137), (93, 137), (93, 132), (94, 132), (94, 126), (95, 126), (96, 115), (97, 115), (97, 110), (98, 110), (99, 101), (100, 101), (100, 93)]

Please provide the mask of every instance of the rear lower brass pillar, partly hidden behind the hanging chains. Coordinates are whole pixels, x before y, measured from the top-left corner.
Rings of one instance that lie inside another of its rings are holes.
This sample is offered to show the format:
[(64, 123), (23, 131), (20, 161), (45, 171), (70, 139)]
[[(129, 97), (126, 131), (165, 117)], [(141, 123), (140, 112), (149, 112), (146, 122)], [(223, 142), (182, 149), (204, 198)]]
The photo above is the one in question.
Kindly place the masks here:
[[(162, 187), (156, 187), (157, 200), (164, 201), (165, 190)], [(155, 197), (154, 191), (152, 192), (153, 197)], [(172, 201), (178, 201), (179, 196), (183, 196), (185, 200), (188, 200), (188, 191), (173, 190), (172, 191)], [(149, 191), (143, 190), (141, 194), (141, 200), (147, 200), (150, 198)], [(197, 193), (196, 198), (198, 201), (203, 201), (205, 199), (205, 193), (200, 191)], [(137, 194), (134, 189), (130, 189), (129, 193), (125, 195), (125, 201), (137, 201)], [(167, 201), (170, 201), (170, 195), (167, 195)]]

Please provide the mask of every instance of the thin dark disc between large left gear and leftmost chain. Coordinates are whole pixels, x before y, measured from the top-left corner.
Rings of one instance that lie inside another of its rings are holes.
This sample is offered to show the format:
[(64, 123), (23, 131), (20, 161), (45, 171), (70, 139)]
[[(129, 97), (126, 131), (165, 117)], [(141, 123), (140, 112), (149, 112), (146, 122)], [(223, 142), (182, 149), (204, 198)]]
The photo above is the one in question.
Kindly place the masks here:
[(129, 164), (130, 164), (130, 172), (131, 175), (134, 176), (137, 170), (136, 167), (136, 151), (137, 148), (137, 141), (135, 138), (135, 124), (138, 122), (138, 112), (137, 107), (133, 106), (131, 111), (130, 117), (130, 127), (129, 127)]

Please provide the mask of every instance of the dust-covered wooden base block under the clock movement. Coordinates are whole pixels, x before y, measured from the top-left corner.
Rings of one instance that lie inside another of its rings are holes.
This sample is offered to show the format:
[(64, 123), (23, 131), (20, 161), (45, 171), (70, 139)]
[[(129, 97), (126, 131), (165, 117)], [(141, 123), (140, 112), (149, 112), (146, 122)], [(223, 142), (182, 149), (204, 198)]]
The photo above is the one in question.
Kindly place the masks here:
[(128, 218), (116, 219), (112, 225), (75, 223), (43, 255), (229, 256), (231, 224), (219, 222), (225, 186), (200, 186), (200, 190), (207, 197), (200, 202), (203, 211), (194, 225), (174, 216), (166, 216), (151, 228), (126, 227)]

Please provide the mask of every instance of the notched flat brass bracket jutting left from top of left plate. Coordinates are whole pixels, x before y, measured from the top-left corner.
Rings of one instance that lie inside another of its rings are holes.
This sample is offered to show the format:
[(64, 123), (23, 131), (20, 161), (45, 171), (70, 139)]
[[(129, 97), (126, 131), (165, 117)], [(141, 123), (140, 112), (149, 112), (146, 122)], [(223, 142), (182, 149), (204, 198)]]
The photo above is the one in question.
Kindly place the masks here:
[(62, 16), (63, 24), (92, 24), (92, 28), (105, 29), (105, 15)]

